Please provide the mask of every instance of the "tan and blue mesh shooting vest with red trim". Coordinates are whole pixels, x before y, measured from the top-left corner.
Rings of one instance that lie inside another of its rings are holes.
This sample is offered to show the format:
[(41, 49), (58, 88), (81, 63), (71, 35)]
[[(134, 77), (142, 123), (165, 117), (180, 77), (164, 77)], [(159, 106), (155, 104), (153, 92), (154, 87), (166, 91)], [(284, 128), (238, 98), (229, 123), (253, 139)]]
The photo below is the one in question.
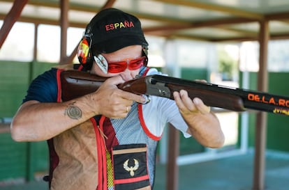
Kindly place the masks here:
[(159, 139), (144, 123), (142, 104), (134, 103), (126, 118), (91, 118), (47, 141), (50, 189), (151, 189)]

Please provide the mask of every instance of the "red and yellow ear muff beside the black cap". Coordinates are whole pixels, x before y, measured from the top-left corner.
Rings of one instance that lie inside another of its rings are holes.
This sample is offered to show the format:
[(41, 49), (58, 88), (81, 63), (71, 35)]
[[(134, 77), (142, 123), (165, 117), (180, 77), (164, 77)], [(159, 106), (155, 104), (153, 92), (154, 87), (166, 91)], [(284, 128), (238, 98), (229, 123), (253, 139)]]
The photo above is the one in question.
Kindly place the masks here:
[(82, 40), (80, 41), (80, 44), (78, 45), (77, 50), (77, 58), (80, 61), (80, 63), (84, 66), (86, 66), (87, 63), (91, 63), (91, 39), (89, 36), (84, 35)]

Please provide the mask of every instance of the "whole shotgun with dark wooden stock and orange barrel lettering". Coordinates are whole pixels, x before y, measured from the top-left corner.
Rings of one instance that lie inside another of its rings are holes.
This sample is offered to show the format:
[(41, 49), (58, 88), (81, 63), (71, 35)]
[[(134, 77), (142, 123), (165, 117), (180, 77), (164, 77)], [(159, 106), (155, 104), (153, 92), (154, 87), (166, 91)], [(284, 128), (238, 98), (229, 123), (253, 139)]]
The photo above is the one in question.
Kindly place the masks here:
[[(89, 72), (67, 70), (61, 72), (62, 100), (87, 95), (96, 91), (108, 78)], [(289, 116), (289, 97), (262, 93), (242, 88), (232, 88), (200, 81), (189, 81), (163, 75), (149, 75), (126, 81), (118, 88), (138, 95), (155, 95), (174, 100), (172, 93), (184, 89), (192, 99), (199, 97), (207, 106), (246, 111), (254, 109)]]

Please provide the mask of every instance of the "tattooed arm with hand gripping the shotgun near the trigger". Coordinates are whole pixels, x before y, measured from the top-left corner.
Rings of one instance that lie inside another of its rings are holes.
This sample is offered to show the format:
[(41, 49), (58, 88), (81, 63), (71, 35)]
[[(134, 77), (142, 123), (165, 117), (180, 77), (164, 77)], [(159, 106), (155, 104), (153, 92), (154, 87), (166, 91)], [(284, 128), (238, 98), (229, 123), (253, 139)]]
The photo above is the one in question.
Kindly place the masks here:
[(29, 100), (20, 106), (11, 123), (15, 141), (44, 141), (71, 129), (96, 115), (125, 118), (133, 102), (144, 97), (117, 88), (121, 77), (106, 80), (96, 92), (60, 103)]

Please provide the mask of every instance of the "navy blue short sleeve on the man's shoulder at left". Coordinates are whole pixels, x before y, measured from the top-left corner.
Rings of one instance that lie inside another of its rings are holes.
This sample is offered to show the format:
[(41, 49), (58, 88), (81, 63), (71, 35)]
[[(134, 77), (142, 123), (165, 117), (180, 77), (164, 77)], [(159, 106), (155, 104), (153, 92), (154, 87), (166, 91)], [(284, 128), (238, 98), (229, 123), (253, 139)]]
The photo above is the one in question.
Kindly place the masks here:
[(31, 82), (23, 103), (29, 100), (57, 102), (57, 69), (52, 68)]

